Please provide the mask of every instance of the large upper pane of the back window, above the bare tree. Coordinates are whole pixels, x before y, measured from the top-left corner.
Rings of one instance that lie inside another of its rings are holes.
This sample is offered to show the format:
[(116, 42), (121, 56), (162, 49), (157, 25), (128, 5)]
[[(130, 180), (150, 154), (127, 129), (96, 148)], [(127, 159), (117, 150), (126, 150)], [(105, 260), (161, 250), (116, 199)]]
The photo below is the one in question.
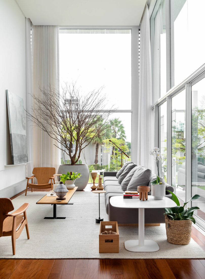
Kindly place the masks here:
[(131, 109), (131, 30), (60, 30), (60, 83), (103, 88), (109, 107)]

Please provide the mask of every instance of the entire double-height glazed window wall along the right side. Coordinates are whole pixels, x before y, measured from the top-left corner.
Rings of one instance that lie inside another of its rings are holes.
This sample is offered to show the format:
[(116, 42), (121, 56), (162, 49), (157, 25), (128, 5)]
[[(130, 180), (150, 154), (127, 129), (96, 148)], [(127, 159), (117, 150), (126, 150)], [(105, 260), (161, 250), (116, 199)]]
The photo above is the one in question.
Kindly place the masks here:
[(188, 206), (199, 206), (194, 214), (205, 229), (204, 10), (203, 0), (157, 0), (150, 12), (150, 38), (152, 109), (158, 119), (153, 145), (166, 158), (162, 158), (161, 175), (181, 202), (194, 194), (201, 196)]

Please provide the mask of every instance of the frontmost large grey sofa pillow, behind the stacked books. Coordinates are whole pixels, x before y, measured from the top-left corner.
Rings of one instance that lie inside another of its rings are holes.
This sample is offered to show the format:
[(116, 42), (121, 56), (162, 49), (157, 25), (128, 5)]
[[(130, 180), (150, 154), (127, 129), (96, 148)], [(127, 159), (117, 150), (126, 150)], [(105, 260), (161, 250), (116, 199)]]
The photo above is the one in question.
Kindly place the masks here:
[(151, 177), (152, 171), (150, 169), (137, 168), (127, 186), (127, 191), (137, 191), (137, 186), (148, 186)]

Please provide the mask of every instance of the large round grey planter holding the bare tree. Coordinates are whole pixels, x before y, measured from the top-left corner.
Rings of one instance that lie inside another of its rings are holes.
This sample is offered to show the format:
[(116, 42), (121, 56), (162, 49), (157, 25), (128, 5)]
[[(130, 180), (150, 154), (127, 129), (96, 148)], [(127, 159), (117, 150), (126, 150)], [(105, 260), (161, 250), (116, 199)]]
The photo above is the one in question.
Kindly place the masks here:
[(67, 172), (77, 172), (81, 174), (80, 178), (76, 179), (75, 186), (78, 187), (77, 191), (82, 191), (89, 181), (89, 169), (87, 165), (60, 165), (58, 168), (58, 174), (67, 174)]

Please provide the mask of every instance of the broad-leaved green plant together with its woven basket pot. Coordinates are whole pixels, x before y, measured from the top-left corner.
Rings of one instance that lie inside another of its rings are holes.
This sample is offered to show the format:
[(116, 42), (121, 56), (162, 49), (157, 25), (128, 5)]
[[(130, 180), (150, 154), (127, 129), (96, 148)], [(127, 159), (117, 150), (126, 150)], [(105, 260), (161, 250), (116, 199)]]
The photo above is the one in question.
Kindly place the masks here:
[(188, 244), (191, 240), (191, 228), (192, 222), (195, 224), (193, 217), (194, 210), (199, 209), (198, 206), (192, 206), (190, 208), (184, 208), (184, 206), (195, 199), (200, 198), (199, 195), (194, 195), (189, 201), (180, 206), (177, 196), (172, 194), (172, 200), (175, 201), (177, 206), (172, 208), (165, 208), (165, 224), (167, 241), (172, 244)]

